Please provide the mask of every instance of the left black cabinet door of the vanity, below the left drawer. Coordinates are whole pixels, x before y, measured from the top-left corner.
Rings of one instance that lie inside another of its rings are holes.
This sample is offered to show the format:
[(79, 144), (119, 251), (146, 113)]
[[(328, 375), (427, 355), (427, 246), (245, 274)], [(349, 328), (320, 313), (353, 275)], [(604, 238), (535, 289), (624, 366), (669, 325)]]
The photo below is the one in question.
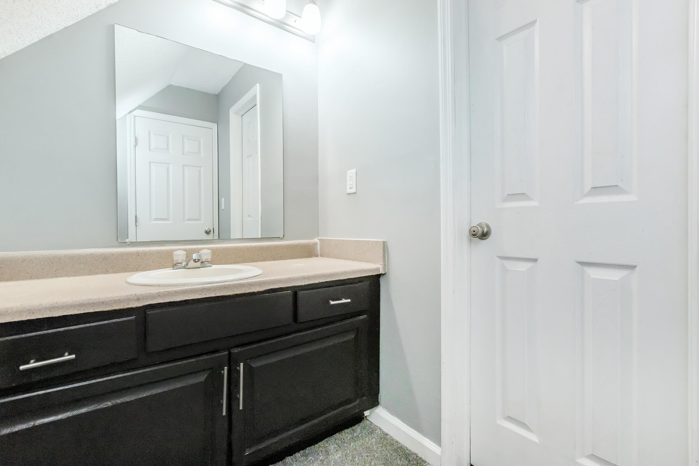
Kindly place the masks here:
[(0, 399), (0, 465), (225, 465), (227, 356)]

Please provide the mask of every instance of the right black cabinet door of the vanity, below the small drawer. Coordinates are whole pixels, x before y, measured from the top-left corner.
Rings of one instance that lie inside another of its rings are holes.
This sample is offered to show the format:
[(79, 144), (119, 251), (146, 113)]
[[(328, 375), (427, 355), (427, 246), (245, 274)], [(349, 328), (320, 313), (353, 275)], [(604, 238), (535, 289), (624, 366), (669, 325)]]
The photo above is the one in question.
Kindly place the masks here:
[(231, 351), (233, 464), (254, 463), (370, 408), (367, 328), (359, 316)]

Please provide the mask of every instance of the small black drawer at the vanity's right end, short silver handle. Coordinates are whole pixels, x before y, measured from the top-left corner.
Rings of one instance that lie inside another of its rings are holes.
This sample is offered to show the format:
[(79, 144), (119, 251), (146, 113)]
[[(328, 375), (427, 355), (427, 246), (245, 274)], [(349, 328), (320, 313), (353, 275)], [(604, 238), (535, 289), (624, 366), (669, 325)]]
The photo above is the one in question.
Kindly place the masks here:
[(298, 322), (366, 310), (371, 302), (369, 282), (298, 291)]

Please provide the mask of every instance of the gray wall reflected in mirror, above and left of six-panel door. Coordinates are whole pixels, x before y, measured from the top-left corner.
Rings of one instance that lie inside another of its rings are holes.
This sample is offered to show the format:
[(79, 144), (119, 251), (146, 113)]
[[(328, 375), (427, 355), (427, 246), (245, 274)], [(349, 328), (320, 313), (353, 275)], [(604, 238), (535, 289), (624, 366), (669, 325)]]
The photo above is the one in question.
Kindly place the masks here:
[[(187, 87), (168, 85), (132, 110), (175, 115), (175, 117), (218, 121), (218, 96)], [(129, 182), (127, 178), (127, 115), (117, 119), (117, 226), (120, 240), (129, 238)], [(220, 235), (230, 238), (230, 235)]]

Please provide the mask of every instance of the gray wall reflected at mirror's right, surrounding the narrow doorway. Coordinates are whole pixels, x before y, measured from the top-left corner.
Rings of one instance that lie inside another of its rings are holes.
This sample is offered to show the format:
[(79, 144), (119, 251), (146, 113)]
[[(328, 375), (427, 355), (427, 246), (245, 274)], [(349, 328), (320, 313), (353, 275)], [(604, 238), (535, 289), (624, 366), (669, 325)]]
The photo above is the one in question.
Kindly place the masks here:
[[(231, 204), (231, 138), (229, 110), (260, 85), (260, 171), (261, 171), (261, 235), (280, 237), (284, 233), (284, 183), (282, 160), (282, 75), (257, 66), (244, 64), (221, 89), (219, 99), (219, 197)], [(219, 232), (231, 235), (231, 209), (219, 210)]]

